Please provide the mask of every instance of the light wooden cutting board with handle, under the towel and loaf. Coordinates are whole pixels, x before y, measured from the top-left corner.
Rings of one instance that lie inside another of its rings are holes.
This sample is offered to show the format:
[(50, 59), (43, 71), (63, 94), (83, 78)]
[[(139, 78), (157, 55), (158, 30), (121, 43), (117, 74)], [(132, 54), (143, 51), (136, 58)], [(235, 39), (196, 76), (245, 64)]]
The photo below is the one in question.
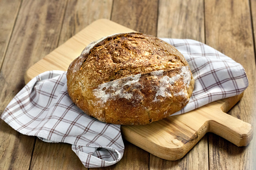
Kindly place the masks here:
[[(133, 32), (109, 20), (97, 20), (30, 67), (25, 82), (48, 70), (66, 71), (69, 64), (91, 42), (116, 33)], [(167, 160), (182, 158), (207, 132), (213, 132), (237, 146), (252, 139), (252, 127), (226, 114), (241, 98), (218, 100), (185, 114), (169, 116), (148, 125), (122, 125), (123, 138)]]

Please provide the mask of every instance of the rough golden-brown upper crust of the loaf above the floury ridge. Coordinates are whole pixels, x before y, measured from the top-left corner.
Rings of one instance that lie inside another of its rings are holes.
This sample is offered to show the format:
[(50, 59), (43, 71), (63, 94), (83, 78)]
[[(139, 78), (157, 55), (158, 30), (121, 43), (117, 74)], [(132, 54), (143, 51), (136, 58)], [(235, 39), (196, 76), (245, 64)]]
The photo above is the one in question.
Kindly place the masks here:
[[(99, 42), (100, 41), (100, 42)], [(84, 88), (131, 75), (188, 66), (173, 46), (141, 33), (117, 34), (92, 43), (73, 62), (71, 70), (84, 73)], [(72, 68), (76, 67), (76, 68)]]

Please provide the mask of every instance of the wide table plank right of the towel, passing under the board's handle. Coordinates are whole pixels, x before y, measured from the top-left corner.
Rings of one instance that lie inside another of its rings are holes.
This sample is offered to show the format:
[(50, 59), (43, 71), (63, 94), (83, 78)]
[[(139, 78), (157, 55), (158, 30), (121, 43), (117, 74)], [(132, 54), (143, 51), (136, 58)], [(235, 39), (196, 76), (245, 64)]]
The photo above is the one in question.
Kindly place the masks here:
[[(252, 7), (253, 8), (253, 7)], [(249, 87), (229, 114), (255, 124), (255, 59), (248, 1), (205, 1), (206, 43), (241, 63)], [(255, 132), (255, 126), (254, 126)], [(253, 169), (255, 137), (247, 147), (236, 147), (216, 135), (209, 135), (209, 168)]]

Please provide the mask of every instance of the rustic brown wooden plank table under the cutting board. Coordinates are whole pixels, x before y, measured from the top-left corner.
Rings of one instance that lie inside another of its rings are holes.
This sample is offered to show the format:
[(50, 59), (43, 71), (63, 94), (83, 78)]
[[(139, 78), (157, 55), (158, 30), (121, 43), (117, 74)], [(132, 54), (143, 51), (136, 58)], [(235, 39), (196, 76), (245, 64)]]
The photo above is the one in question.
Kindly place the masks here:
[[(24, 87), (24, 74), (30, 66), (101, 18), (157, 37), (194, 39), (241, 63), (249, 87), (228, 114), (255, 127), (256, 0), (2, 0), (0, 114)], [(237, 147), (209, 133), (182, 159), (168, 161), (125, 141), (121, 161), (105, 168), (255, 169), (255, 146), (255, 137), (248, 146)], [(70, 144), (46, 143), (37, 137), (22, 135), (0, 120), (0, 169), (86, 168)]]

